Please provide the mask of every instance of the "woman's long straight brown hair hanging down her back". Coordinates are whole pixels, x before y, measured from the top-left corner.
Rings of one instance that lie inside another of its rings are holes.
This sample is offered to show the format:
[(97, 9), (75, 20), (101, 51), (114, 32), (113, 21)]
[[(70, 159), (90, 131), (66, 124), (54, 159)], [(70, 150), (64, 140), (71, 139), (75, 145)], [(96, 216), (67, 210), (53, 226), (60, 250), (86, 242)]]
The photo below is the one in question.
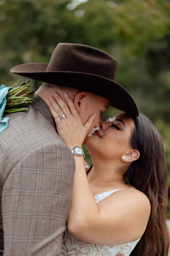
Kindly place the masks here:
[(124, 181), (142, 191), (149, 199), (151, 213), (140, 241), (130, 256), (167, 256), (169, 232), (166, 226), (168, 178), (161, 135), (144, 115), (134, 117), (130, 145), (140, 152), (124, 174)]

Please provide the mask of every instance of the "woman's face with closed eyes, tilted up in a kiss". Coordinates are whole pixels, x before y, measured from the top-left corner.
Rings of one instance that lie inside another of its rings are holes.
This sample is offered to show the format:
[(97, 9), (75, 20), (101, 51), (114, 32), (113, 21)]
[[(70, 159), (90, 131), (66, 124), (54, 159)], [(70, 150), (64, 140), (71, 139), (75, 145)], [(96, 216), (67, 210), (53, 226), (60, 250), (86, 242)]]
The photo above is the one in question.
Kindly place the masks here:
[(121, 158), (132, 148), (129, 139), (135, 128), (133, 119), (126, 113), (112, 116), (97, 125), (88, 135), (86, 146), (91, 155), (97, 152), (105, 158)]

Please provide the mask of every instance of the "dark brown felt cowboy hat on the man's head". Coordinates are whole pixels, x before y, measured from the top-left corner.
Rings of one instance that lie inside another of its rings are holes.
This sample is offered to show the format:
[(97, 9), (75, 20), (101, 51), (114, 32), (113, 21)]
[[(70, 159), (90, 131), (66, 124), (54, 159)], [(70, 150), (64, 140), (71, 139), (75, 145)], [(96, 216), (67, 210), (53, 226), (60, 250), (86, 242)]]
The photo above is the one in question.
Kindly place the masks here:
[(76, 88), (97, 94), (116, 109), (139, 116), (132, 96), (116, 83), (117, 61), (97, 48), (59, 43), (49, 63), (26, 63), (12, 73), (38, 81)]

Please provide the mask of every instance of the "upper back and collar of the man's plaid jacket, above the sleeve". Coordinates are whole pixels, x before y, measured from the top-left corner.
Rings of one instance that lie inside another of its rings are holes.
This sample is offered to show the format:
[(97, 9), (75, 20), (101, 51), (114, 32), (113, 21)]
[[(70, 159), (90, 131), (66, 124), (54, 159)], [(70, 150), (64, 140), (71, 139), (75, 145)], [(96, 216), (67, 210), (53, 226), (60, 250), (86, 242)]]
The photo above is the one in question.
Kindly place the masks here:
[(73, 160), (69, 147), (56, 132), (47, 104), (35, 96), (35, 100), (41, 104), (30, 104), (28, 111), (6, 115), (9, 117), (8, 127), (0, 134), (0, 174), (3, 183), (11, 169), (40, 146), (45, 148), (45, 145), (51, 144), (51, 147), (53, 145), (56, 148), (58, 145), (70, 154), (70, 164)]

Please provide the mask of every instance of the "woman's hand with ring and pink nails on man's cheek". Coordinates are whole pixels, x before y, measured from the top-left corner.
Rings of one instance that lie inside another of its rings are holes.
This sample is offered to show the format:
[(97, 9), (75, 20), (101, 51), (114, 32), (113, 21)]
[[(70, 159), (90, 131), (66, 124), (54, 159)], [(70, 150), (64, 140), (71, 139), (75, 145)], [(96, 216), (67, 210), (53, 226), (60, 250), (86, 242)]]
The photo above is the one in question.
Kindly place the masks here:
[[(64, 93), (64, 99), (70, 109), (57, 92), (53, 96), (49, 96), (49, 109), (56, 122), (58, 135), (70, 148), (75, 146), (81, 147), (87, 131), (94, 122), (96, 114), (90, 116), (88, 121), (83, 125), (71, 97), (67, 93)], [(66, 117), (60, 119), (60, 116), (63, 114)]]

